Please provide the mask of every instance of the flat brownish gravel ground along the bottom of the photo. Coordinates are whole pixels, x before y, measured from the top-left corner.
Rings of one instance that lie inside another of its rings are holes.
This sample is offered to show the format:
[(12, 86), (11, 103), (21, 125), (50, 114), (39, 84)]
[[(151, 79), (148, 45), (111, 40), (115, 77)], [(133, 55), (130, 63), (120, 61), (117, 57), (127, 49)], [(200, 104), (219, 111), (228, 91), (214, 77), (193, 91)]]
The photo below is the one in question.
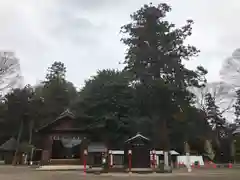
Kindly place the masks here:
[(176, 179), (176, 180), (239, 180), (239, 169), (194, 170), (187, 173), (177, 170), (171, 174), (104, 174), (84, 175), (79, 171), (36, 171), (28, 167), (0, 166), (0, 180), (139, 180), (144, 179)]

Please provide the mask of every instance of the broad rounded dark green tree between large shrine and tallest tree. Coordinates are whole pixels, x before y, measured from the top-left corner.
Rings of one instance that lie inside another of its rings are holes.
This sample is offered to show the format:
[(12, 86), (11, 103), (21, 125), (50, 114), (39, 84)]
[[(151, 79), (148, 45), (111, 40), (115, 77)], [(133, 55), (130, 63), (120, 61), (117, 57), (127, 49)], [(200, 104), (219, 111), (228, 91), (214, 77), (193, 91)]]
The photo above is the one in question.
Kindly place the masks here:
[(109, 69), (98, 71), (96, 76), (85, 82), (79, 97), (74, 109), (78, 117), (88, 117), (81, 123), (91, 127), (92, 137), (99, 137), (97, 129), (100, 128), (104, 140), (115, 142), (115, 145), (119, 138), (123, 142), (125, 133), (130, 130), (129, 114), (133, 98), (127, 74)]

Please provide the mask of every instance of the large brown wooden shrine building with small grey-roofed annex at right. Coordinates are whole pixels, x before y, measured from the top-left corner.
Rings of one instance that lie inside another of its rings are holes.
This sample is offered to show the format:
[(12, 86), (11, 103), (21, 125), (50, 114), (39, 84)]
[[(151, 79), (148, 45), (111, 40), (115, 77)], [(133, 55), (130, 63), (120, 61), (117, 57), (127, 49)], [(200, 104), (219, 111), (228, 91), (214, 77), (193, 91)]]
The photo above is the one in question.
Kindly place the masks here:
[(89, 163), (100, 164), (99, 154), (107, 152), (104, 143), (91, 142), (87, 128), (76, 127), (74, 114), (66, 110), (56, 120), (38, 129), (41, 164), (83, 164), (84, 150), (89, 152)]

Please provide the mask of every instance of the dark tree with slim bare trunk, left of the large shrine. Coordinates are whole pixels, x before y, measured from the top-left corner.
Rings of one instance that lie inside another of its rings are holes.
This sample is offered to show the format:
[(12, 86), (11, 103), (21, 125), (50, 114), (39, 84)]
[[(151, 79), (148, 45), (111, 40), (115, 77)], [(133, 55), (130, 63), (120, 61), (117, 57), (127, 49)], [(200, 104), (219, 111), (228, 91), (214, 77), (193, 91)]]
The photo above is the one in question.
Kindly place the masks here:
[[(16, 155), (20, 148), (21, 141), (31, 143), (33, 130), (33, 106), (32, 99), (34, 92), (31, 86), (27, 85), (23, 89), (14, 89), (11, 93), (5, 96), (2, 105), (5, 106), (3, 116), (4, 136), (17, 137), (17, 147), (15, 152), (14, 163), (16, 163)], [(31, 125), (30, 125), (31, 124)]]

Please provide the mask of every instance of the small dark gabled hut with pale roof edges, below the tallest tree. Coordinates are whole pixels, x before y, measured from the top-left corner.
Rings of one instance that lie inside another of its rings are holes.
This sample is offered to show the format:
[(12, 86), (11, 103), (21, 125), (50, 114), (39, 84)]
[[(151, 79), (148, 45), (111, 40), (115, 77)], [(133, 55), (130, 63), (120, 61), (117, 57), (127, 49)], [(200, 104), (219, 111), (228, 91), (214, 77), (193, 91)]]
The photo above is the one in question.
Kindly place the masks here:
[(125, 154), (128, 150), (132, 150), (132, 168), (150, 168), (150, 139), (137, 133), (125, 143)]

